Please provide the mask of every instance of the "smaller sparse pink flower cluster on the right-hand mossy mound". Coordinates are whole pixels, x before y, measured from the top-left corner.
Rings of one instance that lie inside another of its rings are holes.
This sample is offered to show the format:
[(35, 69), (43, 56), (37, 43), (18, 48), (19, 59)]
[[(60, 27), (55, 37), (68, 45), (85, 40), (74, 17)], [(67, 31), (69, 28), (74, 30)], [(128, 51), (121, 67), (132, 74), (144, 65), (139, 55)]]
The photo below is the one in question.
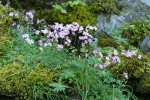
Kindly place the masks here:
[[(104, 69), (111, 64), (117, 64), (117, 63), (122, 64), (121, 62), (122, 56), (127, 57), (127, 58), (135, 56), (139, 60), (142, 59), (141, 54), (138, 54), (137, 51), (130, 51), (130, 50), (122, 50), (121, 52), (118, 53), (118, 51), (114, 49), (114, 51), (108, 54), (107, 56), (104, 56), (101, 52), (95, 50), (93, 54), (95, 57), (98, 57), (98, 59), (100, 59), (99, 60), (100, 62), (94, 65), (95, 67), (99, 67), (100, 69)], [(123, 72), (122, 75), (125, 79), (128, 79), (128, 73)]]

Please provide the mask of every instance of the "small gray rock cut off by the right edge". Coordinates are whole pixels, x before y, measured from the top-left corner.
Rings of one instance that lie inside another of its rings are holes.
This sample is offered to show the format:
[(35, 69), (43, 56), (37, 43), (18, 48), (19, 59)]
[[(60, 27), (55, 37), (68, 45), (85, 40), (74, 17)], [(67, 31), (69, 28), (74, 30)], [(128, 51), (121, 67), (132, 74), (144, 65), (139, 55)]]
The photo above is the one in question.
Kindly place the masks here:
[(146, 36), (140, 44), (140, 47), (144, 53), (150, 52), (150, 35)]

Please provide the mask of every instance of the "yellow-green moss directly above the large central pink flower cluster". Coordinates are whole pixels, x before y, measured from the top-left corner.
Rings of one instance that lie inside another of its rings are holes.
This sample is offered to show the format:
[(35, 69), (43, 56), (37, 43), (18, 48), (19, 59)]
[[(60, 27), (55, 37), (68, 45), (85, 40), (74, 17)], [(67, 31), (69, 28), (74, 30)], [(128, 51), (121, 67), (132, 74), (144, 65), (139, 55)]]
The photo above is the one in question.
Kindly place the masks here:
[(97, 14), (92, 13), (92, 9), (88, 5), (75, 5), (73, 7), (66, 7), (67, 13), (62, 13), (60, 10), (52, 9), (45, 10), (43, 12), (38, 11), (37, 18), (45, 18), (48, 23), (54, 22), (70, 24), (72, 22), (78, 22), (82, 26), (96, 25)]

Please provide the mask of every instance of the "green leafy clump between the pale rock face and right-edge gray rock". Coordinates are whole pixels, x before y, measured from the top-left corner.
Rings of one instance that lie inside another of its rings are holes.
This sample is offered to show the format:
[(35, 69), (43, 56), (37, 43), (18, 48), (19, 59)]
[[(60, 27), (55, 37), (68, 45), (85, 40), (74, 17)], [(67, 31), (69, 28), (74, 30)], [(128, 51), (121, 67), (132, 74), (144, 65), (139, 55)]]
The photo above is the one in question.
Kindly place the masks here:
[(150, 20), (134, 20), (123, 28), (123, 37), (135, 47), (140, 47), (140, 43), (146, 35), (150, 33)]

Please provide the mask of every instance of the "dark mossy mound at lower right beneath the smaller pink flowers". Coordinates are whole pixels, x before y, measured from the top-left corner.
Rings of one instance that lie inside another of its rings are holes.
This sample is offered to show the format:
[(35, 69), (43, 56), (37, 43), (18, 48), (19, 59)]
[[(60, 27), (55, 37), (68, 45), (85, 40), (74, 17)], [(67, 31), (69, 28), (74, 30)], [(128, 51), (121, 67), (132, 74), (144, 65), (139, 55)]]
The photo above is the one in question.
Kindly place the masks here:
[(123, 78), (123, 73), (128, 73), (128, 84), (141, 94), (150, 92), (150, 59), (143, 55), (125, 57), (121, 55), (121, 63), (108, 67), (116, 78)]

